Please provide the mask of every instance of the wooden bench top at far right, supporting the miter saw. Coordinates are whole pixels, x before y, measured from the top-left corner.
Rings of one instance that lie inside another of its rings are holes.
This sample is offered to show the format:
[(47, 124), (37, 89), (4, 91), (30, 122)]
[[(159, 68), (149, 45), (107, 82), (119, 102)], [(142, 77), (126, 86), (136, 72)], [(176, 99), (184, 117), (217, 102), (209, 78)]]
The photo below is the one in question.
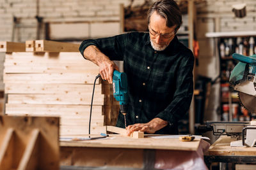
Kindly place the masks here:
[(230, 139), (230, 136), (220, 136), (213, 143), (208, 152), (205, 153), (205, 164), (209, 169), (212, 162), (232, 162), (237, 164), (256, 162), (256, 148), (250, 147), (231, 147), (230, 142), (236, 139)]

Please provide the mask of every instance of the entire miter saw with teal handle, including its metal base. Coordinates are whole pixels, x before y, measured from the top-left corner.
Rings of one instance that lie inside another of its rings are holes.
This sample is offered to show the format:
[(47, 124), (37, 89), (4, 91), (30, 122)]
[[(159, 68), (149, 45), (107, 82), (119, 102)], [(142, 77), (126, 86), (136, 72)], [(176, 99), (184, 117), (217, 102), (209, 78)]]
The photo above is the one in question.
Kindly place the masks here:
[[(239, 60), (230, 75), (230, 84), (238, 91), (241, 104), (256, 113), (256, 55), (244, 56), (234, 53), (232, 57)], [(233, 139), (230, 146), (256, 146), (256, 120), (251, 122), (206, 122), (198, 127), (201, 132), (212, 131), (214, 135), (227, 135)], [(200, 132), (199, 131), (199, 132)], [(246, 135), (246, 137), (245, 137)]]

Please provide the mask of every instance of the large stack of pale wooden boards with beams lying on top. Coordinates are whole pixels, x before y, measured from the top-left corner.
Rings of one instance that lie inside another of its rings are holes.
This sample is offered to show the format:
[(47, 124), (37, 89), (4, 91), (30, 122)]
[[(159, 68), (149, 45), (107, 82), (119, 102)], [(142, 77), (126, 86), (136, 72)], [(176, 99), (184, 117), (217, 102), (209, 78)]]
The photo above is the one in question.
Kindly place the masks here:
[[(6, 52), (5, 113), (59, 116), (61, 136), (88, 134), (99, 68), (85, 60), (78, 48), (77, 44), (46, 40), (26, 41), (26, 49), (23, 43), (0, 42), (0, 51)], [(106, 125), (115, 125), (118, 110), (112, 86), (98, 79), (91, 133), (106, 133)]]

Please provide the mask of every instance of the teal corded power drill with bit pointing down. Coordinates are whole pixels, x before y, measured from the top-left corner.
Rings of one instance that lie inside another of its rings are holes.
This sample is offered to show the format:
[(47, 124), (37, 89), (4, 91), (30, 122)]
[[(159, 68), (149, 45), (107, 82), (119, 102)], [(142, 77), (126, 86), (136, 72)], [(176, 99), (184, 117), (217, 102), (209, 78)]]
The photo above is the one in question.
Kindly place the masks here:
[(120, 112), (124, 115), (124, 123), (126, 128), (126, 118), (127, 113), (127, 102), (128, 102), (128, 87), (127, 87), (127, 75), (125, 73), (120, 73), (119, 71), (113, 72), (113, 96), (116, 101), (119, 101)]

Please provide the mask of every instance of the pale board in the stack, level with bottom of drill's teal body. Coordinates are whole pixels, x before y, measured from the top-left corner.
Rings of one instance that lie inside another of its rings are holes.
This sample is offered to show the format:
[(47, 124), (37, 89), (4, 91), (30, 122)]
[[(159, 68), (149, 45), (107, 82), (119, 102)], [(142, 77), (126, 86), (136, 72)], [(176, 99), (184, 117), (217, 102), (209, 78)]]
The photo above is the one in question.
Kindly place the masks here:
[[(12, 104), (91, 104), (90, 96), (54, 95), (54, 94), (8, 94), (8, 103)], [(93, 105), (103, 105), (104, 95), (94, 94)]]

